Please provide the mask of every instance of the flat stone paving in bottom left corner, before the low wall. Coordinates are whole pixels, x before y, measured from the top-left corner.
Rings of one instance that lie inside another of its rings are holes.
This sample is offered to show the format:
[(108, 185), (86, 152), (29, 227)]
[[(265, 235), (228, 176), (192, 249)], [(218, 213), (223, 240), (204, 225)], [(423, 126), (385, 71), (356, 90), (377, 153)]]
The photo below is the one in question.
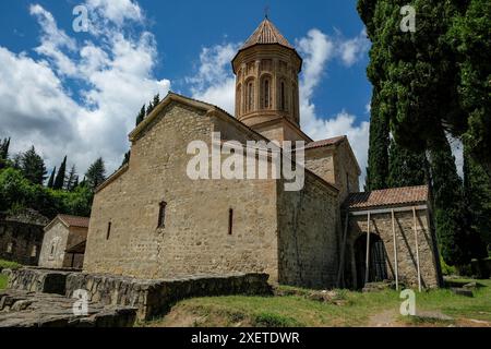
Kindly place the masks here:
[(20, 290), (0, 291), (0, 327), (130, 327), (136, 309), (89, 303), (86, 316), (75, 316), (76, 300)]

